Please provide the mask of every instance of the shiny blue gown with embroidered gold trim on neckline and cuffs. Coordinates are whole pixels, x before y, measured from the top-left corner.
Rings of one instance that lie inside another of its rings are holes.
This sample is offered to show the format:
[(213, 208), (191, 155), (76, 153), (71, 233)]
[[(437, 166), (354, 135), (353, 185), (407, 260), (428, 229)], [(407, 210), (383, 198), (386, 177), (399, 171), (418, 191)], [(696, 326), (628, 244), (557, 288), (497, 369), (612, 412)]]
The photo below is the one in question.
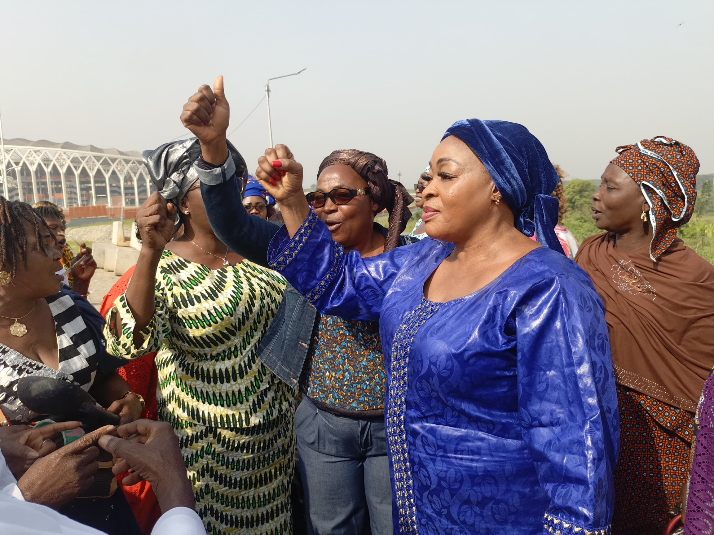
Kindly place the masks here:
[(395, 532), (608, 534), (618, 406), (592, 282), (543, 247), (432, 302), (424, 282), (451, 250), (425, 238), (346, 254), (312, 211), (271, 243), (318, 310), (379, 321)]

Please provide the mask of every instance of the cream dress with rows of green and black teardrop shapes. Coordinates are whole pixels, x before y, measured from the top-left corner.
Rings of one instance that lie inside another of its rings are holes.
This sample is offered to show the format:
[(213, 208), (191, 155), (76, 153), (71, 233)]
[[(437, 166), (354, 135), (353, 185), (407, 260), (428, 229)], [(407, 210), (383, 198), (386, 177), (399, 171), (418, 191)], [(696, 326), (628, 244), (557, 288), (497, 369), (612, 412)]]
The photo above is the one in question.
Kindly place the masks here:
[(156, 270), (156, 313), (132, 343), (134, 317), (107, 350), (119, 357), (159, 351), (159, 419), (176, 429), (196, 511), (208, 534), (291, 534), (296, 394), (256, 356), (285, 280), (243, 260), (211, 270), (165, 250)]

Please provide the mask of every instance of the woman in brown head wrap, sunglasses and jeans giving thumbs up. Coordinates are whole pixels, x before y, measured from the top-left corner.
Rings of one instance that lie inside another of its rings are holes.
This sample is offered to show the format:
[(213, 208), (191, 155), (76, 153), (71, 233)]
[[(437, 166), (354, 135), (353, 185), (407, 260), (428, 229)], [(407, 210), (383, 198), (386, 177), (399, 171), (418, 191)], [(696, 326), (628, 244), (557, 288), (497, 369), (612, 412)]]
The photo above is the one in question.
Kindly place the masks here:
[[(241, 181), (226, 168), (228, 106), (222, 78), (216, 83), (218, 91), (202, 86), (181, 115), (201, 141), (196, 168), (206, 213), (216, 236), (231, 250), (267, 266), (268, 244), (281, 226), (236, 209)], [(265, 157), (274, 160), (285, 150), (278, 145)], [(401, 235), (411, 217), (411, 196), (388, 180), (386, 163), (374, 154), (334, 151), (320, 165), (317, 190), (306, 198), (333, 239), (363, 257), (416, 241)], [(385, 209), (388, 229), (374, 223)], [(295, 423), (308, 532), (391, 534), (386, 370), (376, 322), (318, 315), (288, 286), (258, 356), (303, 393)]]

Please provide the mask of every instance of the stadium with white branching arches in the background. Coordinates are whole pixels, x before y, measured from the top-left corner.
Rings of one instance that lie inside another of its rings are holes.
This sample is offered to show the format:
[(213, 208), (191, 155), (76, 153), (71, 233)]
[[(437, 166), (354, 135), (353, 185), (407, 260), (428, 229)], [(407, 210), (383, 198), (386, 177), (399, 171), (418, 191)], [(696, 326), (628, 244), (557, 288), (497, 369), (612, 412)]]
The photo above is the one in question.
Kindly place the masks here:
[(151, 193), (138, 151), (21, 138), (4, 139), (3, 145), (2, 195), (9, 200), (49, 200), (71, 218), (116, 218), (133, 217)]

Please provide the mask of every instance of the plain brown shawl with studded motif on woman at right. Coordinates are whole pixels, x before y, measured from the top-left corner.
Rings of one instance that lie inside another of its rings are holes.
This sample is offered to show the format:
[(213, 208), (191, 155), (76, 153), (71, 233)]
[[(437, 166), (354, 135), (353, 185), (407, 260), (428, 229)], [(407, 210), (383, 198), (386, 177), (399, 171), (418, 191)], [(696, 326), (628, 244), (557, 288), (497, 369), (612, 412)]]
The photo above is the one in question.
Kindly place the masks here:
[(694, 412), (714, 367), (714, 266), (679, 238), (660, 261), (615, 235), (586, 238), (575, 262), (603, 298), (615, 380)]

